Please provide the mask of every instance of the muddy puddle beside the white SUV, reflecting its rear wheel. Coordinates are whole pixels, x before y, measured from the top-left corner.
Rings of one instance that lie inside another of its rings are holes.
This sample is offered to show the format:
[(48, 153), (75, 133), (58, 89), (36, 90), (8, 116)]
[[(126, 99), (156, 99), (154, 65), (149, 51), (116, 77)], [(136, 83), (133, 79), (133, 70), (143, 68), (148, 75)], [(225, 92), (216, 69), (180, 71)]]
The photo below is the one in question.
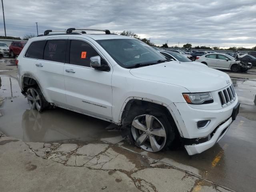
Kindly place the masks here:
[(4, 98), (4, 102), (0, 106), (0, 130), (7, 136), (32, 142), (69, 139), (91, 142), (120, 136), (120, 132), (106, 130), (109, 122), (83, 114), (62, 108), (42, 113), (30, 110), (15, 78), (1, 76), (1, 83), (0, 97)]

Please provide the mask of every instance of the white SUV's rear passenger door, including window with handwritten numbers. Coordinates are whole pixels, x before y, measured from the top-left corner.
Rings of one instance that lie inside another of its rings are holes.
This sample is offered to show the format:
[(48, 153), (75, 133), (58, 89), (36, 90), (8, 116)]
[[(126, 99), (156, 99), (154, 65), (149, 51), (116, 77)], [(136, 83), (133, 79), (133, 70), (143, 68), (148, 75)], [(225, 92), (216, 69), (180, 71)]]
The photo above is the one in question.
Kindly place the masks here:
[(66, 106), (63, 68), (67, 38), (44, 41), (43, 58), (35, 62), (36, 75), (48, 102)]

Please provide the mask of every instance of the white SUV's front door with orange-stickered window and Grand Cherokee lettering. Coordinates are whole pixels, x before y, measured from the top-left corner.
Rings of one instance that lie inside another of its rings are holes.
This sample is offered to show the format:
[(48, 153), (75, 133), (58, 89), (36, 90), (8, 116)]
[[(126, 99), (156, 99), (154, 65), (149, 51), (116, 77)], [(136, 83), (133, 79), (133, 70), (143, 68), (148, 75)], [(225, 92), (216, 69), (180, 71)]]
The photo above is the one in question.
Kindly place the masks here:
[(95, 70), (90, 57), (101, 56), (89, 41), (68, 41), (67, 63), (64, 65), (66, 99), (70, 108), (92, 116), (112, 120), (112, 69)]

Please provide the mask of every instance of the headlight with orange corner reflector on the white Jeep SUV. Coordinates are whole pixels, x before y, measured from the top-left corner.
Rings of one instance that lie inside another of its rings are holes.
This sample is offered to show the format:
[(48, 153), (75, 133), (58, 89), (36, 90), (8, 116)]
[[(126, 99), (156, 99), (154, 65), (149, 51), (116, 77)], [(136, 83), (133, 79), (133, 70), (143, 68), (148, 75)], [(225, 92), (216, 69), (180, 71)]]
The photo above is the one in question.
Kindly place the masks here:
[(206, 93), (183, 93), (184, 99), (189, 104), (206, 104), (212, 103), (212, 95), (210, 92)]

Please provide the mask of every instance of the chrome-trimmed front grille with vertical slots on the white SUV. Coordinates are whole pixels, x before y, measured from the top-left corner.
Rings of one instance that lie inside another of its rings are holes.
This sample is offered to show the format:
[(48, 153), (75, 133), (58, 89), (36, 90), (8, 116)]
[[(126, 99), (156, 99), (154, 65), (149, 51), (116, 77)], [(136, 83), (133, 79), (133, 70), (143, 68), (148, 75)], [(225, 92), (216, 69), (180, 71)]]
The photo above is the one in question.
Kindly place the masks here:
[(218, 92), (220, 103), (225, 107), (236, 100), (236, 93), (233, 84)]

